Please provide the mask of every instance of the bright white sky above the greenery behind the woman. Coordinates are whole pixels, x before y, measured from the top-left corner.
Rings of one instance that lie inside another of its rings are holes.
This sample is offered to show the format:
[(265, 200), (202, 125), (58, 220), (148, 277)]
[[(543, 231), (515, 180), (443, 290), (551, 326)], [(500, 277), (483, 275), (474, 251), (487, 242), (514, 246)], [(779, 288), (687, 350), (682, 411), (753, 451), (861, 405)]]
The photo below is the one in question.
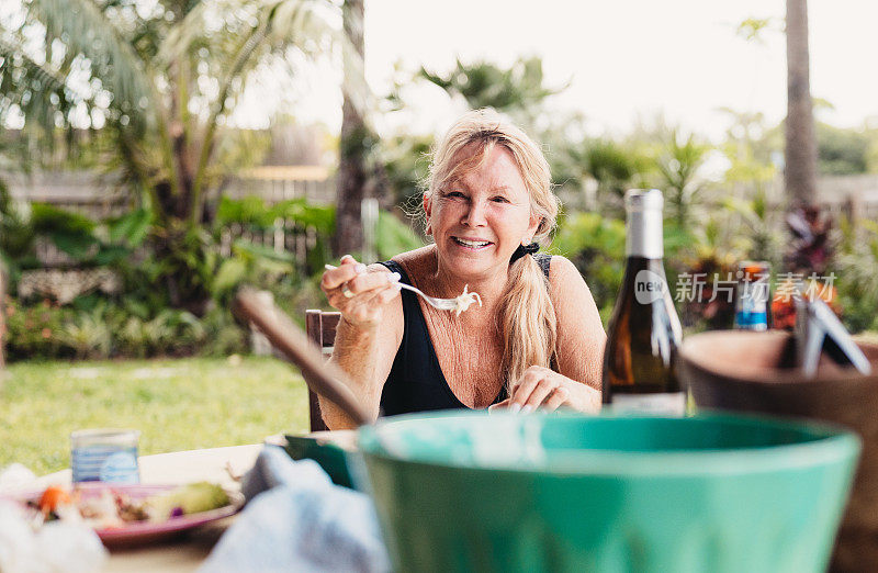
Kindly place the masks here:
[[(835, 110), (820, 119), (858, 126), (878, 117), (878, 1), (810, 0), (811, 91)], [(618, 133), (638, 114), (663, 111), (673, 123), (718, 137), (729, 120), (716, 110), (786, 114), (784, 0), (367, 0), (365, 65), (386, 91), (393, 65), (447, 71), (457, 56), (500, 65), (542, 56), (554, 99), (586, 114), (589, 130)], [(735, 34), (747, 18), (774, 18), (762, 44)], [(340, 123), (330, 78), (311, 83), (295, 115)], [(461, 111), (443, 94), (416, 98), (412, 127), (442, 130)]]

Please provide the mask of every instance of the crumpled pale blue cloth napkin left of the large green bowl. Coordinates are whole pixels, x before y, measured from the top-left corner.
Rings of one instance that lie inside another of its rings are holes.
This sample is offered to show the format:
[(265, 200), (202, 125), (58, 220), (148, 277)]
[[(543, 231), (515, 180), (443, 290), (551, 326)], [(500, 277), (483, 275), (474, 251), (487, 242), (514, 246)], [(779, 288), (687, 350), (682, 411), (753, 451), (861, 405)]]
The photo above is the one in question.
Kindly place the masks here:
[(201, 573), (390, 571), (372, 499), (333, 484), (313, 460), (266, 446), (241, 491), (248, 503)]

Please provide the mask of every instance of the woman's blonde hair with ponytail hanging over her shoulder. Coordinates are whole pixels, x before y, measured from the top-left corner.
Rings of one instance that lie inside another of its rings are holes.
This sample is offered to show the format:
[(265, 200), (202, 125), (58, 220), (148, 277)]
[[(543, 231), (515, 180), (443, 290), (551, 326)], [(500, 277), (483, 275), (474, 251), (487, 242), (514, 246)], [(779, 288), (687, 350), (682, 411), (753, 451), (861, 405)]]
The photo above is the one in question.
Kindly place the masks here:
[[(451, 126), (432, 154), (426, 193), (431, 195), (477, 168), (497, 145), (511, 154), (525, 180), (531, 215), (540, 217), (533, 241), (542, 244), (555, 227), (561, 205), (552, 192), (549, 162), (525, 132), (493, 110), (469, 112)], [(464, 148), (472, 153), (455, 161)], [(558, 333), (549, 282), (533, 257), (521, 257), (509, 266), (505, 292), (497, 327), (503, 336), (502, 372), (508, 385), (530, 366), (551, 367)]]

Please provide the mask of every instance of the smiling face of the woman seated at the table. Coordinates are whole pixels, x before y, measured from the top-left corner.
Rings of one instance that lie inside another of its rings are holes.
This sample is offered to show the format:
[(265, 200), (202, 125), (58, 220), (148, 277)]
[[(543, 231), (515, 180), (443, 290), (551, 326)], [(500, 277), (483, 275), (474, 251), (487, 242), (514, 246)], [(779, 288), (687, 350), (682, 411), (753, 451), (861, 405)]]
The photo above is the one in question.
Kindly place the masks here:
[[(472, 153), (464, 148), (458, 160)], [(425, 194), (424, 209), (441, 267), (463, 278), (508, 269), (513, 251), (531, 241), (540, 223), (513, 155), (500, 145), (475, 169)]]

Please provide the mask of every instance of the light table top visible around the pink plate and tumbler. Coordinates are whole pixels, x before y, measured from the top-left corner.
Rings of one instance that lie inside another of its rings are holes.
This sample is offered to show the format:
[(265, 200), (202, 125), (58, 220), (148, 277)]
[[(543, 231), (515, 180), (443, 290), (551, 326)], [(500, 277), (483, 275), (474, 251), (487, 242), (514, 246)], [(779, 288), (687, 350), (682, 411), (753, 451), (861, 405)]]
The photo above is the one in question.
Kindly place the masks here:
[[(229, 464), (235, 473), (244, 473), (252, 468), (261, 443), (233, 446), (206, 450), (176, 451), (142, 456), (140, 483), (177, 484), (209, 481), (224, 485), (235, 482), (226, 471)], [(50, 484), (69, 484), (70, 470), (64, 470), (37, 479), (35, 487)], [(235, 517), (228, 517), (201, 527), (179, 541), (146, 546), (137, 549), (113, 550), (104, 568), (108, 573), (116, 572), (189, 572), (195, 571), (213, 549), (216, 540)]]

